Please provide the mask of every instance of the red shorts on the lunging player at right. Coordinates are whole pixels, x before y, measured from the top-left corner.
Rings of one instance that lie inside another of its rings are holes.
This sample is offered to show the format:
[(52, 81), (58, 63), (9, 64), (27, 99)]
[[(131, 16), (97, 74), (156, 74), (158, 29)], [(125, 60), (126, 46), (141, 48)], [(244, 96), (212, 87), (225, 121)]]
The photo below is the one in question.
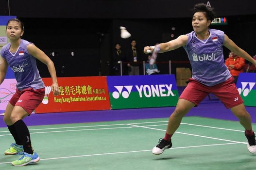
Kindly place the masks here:
[(188, 86), (180, 95), (180, 99), (188, 100), (195, 105), (199, 103), (209, 94), (216, 95), (227, 109), (244, 103), (236, 85), (233, 83), (234, 78), (231, 77), (226, 82), (216, 84), (215, 86), (206, 86), (195, 79), (189, 79)]

